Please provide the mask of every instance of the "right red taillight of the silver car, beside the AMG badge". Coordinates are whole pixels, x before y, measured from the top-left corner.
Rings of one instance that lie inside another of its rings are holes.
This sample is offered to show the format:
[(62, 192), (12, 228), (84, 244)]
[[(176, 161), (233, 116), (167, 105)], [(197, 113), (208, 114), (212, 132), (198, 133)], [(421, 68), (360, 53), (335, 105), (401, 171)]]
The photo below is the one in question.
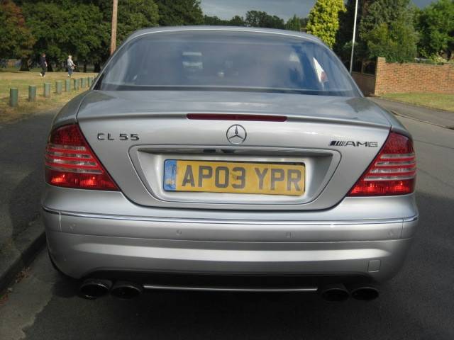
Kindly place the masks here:
[(414, 191), (416, 158), (409, 137), (389, 133), (387, 141), (348, 196), (392, 196)]

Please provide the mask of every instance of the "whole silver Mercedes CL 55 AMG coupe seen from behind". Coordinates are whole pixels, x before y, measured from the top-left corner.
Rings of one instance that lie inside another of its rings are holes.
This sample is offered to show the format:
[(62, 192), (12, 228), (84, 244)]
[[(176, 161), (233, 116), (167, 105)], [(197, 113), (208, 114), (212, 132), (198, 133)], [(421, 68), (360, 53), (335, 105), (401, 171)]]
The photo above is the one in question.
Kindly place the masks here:
[(415, 173), (409, 132), (319, 39), (140, 30), (52, 123), (50, 259), (81, 279), (85, 297), (179, 289), (370, 300), (409, 250)]

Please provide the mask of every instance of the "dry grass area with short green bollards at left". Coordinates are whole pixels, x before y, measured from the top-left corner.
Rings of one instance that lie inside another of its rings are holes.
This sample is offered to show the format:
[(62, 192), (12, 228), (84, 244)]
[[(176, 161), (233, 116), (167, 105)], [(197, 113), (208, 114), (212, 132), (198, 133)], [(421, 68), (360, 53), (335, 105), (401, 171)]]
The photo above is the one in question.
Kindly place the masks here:
[[(76, 72), (72, 74), (73, 79), (96, 77), (95, 73)], [(39, 70), (22, 72), (17, 69), (0, 69), (0, 124), (11, 123), (27, 117), (33, 113), (55, 110), (62, 107), (77, 94), (87, 90), (65, 92), (65, 79), (68, 79), (67, 72), (47, 72), (46, 76), (40, 77)], [(55, 94), (55, 81), (63, 82), (62, 94)], [(50, 98), (43, 96), (44, 83), (50, 83)], [(36, 101), (28, 102), (28, 86), (36, 86)], [(18, 89), (18, 106), (9, 106), (9, 89)], [(71, 88), (73, 82), (71, 81)]]

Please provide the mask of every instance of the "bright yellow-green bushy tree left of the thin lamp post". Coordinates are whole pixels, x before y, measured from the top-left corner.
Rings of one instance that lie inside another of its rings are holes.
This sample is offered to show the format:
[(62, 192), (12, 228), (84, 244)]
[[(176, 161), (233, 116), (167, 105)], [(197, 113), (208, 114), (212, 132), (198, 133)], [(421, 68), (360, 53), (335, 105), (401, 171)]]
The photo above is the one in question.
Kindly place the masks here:
[(416, 57), (418, 35), (409, 0), (374, 1), (362, 16), (359, 31), (366, 57), (386, 57), (390, 62), (409, 62)]

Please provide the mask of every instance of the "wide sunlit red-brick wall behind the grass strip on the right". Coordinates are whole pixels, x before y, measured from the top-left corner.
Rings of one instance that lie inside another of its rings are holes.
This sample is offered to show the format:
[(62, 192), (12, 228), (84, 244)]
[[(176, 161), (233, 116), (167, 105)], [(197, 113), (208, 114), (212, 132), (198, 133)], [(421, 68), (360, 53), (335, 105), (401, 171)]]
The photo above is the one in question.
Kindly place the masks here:
[(454, 65), (400, 64), (378, 58), (373, 94), (406, 92), (454, 94)]

